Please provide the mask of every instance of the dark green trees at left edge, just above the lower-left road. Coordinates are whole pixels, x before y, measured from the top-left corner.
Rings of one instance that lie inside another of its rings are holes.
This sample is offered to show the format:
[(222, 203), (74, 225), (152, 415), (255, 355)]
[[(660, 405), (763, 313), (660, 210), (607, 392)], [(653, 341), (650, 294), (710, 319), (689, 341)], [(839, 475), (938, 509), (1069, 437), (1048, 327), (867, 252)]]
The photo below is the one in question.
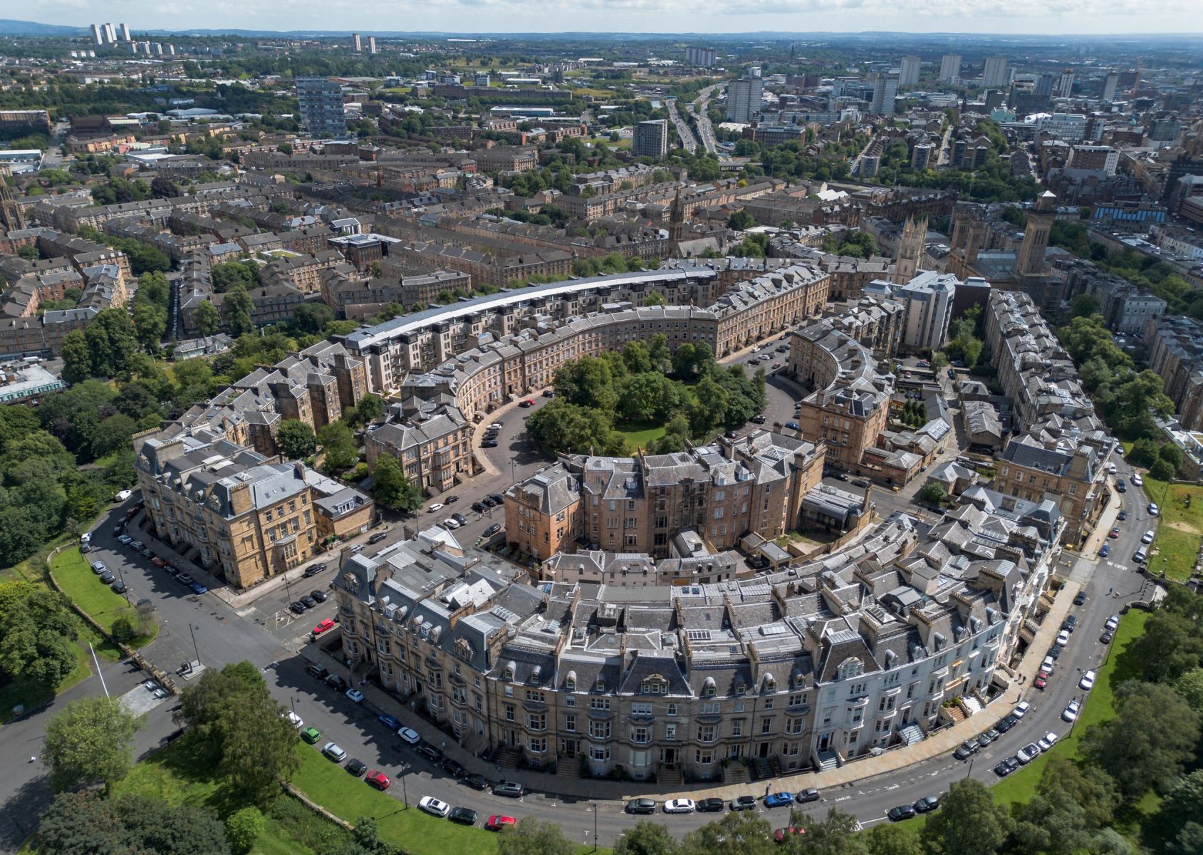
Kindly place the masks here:
[(66, 595), (0, 583), (0, 685), (19, 679), (54, 691), (75, 668), (78, 629)]

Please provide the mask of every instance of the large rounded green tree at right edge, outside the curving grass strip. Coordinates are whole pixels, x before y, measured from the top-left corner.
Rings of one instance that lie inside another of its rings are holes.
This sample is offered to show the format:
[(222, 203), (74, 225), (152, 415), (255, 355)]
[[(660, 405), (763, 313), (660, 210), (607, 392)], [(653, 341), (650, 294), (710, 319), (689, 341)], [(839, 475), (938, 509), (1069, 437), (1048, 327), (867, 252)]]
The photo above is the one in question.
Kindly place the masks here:
[(1139, 680), (1120, 684), (1115, 709), (1083, 735), (1081, 755), (1114, 778), (1125, 798), (1167, 791), (1193, 757), (1198, 713), (1169, 686)]

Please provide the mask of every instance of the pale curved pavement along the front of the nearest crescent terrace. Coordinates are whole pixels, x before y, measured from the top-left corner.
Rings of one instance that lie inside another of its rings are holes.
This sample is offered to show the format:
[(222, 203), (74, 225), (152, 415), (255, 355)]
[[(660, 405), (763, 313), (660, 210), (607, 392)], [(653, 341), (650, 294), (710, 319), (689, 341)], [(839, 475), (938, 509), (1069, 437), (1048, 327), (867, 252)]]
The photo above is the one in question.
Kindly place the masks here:
[[(1027, 645), (1027, 651), (1014, 671), (1012, 685), (1002, 692), (992, 703), (970, 719), (965, 719), (952, 727), (947, 727), (923, 742), (913, 745), (894, 748), (876, 757), (864, 757), (846, 762), (843, 766), (828, 772), (801, 772), (798, 774), (782, 776), (772, 779), (772, 789), (798, 791), (810, 786), (816, 789), (831, 789), (843, 786), (881, 774), (896, 772), (921, 763), (932, 757), (952, 754), (966, 739), (971, 739), (979, 733), (984, 733), (1000, 719), (1006, 718), (1014, 706), (1031, 690), (1031, 682), (1039, 671), (1044, 650), (1053, 645), (1056, 633), (1061, 627), (1061, 621), (1069, 613), (1073, 597), (1078, 594), (1080, 585), (1077, 582), (1067, 582), (1057, 591), (1053, 608), (1044, 615), (1039, 631)], [(316, 645), (307, 645), (301, 650), (301, 655), (309, 661), (319, 661), (331, 672), (345, 677), (351, 684), (357, 684), (352, 679), (350, 671), (338, 662), (333, 656), (318, 654)], [(1017, 688), (1018, 686), (1018, 688)], [(709, 798), (718, 797), (731, 800), (737, 796), (755, 796), (763, 794), (768, 779), (753, 780), (742, 784), (719, 784), (710, 788), (694, 788), (674, 792), (665, 791), (658, 784), (640, 784), (638, 782), (614, 782), (599, 780), (595, 778), (575, 778), (533, 770), (505, 770), (504, 772), (496, 765), (469, 754), (455, 743), (455, 739), (443, 730), (439, 730), (428, 719), (414, 712), (407, 703), (380, 689), (373, 683), (358, 685), (363, 692), (363, 703), (377, 714), (387, 712), (395, 715), (407, 727), (413, 727), (426, 742), (439, 748), (448, 756), (455, 759), (468, 772), (481, 774), (488, 780), (515, 780), (529, 790), (579, 798), (626, 801), (638, 796), (654, 795), (662, 800), (685, 798)], [(1012, 695), (1012, 692), (1015, 692)], [(1008, 697), (1009, 696), (1009, 697)], [(576, 762), (565, 760), (565, 762)]]

